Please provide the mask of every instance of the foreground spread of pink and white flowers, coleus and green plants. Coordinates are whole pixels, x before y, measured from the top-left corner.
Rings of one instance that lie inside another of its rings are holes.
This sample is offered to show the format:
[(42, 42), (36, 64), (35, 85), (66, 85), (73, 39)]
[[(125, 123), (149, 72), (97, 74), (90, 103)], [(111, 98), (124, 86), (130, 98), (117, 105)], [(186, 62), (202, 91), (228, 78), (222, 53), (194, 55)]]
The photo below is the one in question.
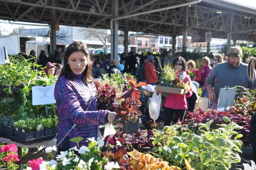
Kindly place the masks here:
[[(80, 146), (82, 137), (70, 139), (77, 146), (60, 152), (53, 159), (55, 147), (46, 148), (49, 157), (28, 161), (25, 169), (230, 169), (239, 163), (243, 127), (226, 116), (218, 128), (213, 120), (203, 124), (177, 124), (126, 134), (108, 135), (104, 140), (87, 139), (87, 146)], [(13, 146), (2, 146), (1, 165), (17, 169), (17, 153)]]

